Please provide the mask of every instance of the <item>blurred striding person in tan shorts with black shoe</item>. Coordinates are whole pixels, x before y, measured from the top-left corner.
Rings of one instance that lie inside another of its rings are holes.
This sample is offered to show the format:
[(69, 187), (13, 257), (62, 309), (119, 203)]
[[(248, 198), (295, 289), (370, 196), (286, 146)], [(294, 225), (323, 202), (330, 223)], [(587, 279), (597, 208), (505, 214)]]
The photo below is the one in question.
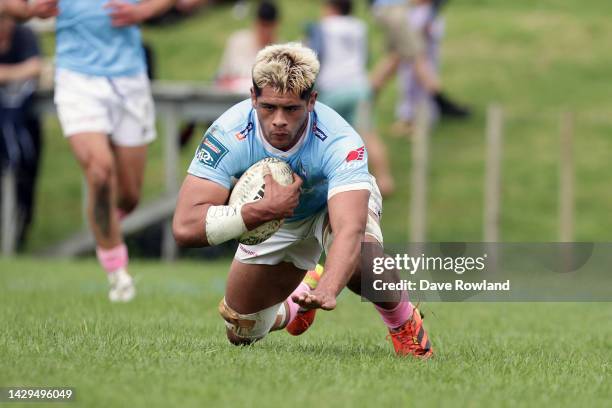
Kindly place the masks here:
[(431, 95), (439, 111), (446, 116), (465, 118), (470, 112), (442, 93), (442, 85), (431, 66), (425, 50), (423, 35), (410, 26), (408, 0), (371, 0), (372, 13), (380, 25), (386, 42), (386, 55), (372, 72), (372, 87), (380, 92), (389, 79), (397, 72), (401, 62), (410, 62), (414, 78)]

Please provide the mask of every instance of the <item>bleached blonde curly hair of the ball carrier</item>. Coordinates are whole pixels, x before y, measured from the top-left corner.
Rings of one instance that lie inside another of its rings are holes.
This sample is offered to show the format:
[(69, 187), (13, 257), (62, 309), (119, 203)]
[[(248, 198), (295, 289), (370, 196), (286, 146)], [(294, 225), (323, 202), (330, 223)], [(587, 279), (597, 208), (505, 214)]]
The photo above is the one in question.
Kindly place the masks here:
[(269, 45), (257, 53), (253, 65), (253, 87), (257, 96), (270, 86), (279, 93), (293, 93), (307, 99), (319, 73), (313, 50), (300, 43)]

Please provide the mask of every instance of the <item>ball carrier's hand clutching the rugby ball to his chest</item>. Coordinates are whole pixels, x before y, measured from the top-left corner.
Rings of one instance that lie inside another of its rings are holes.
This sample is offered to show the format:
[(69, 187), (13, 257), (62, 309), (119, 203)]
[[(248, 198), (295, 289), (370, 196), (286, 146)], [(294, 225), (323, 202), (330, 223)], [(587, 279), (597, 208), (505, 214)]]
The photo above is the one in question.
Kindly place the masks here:
[(293, 216), (293, 210), (300, 201), (300, 188), (302, 179), (293, 173), (293, 183), (288, 186), (280, 185), (272, 178), (270, 169), (264, 168), (266, 187), (261, 205), (270, 212), (270, 219), (282, 219)]

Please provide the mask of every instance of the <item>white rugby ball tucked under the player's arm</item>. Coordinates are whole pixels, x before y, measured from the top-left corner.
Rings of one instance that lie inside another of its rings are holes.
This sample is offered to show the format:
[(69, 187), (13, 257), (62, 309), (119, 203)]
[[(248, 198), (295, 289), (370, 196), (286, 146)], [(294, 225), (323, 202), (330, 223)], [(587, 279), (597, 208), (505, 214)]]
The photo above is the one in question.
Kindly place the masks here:
[[(264, 197), (266, 188), (264, 168), (266, 166), (268, 166), (272, 178), (278, 184), (288, 186), (293, 183), (293, 171), (287, 163), (275, 157), (266, 157), (249, 167), (240, 177), (230, 194), (230, 205), (253, 203)], [(238, 238), (238, 242), (246, 245), (257, 245), (274, 235), (281, 225), (283, 225), (283, 220), (268, 221), (242, 234)]]

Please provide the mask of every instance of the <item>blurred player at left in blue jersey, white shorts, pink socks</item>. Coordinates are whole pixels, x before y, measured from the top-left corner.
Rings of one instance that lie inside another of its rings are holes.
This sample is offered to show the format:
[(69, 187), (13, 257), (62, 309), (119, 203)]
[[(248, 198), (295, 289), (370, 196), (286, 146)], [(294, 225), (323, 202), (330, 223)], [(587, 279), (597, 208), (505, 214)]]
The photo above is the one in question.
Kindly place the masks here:
[(141, 22), (173, 0), (60, 0), (55, 104), (87, 182), (87, 215), (111, 301), (136, 293), (119, 221), (140, 199), (155, 113)]

